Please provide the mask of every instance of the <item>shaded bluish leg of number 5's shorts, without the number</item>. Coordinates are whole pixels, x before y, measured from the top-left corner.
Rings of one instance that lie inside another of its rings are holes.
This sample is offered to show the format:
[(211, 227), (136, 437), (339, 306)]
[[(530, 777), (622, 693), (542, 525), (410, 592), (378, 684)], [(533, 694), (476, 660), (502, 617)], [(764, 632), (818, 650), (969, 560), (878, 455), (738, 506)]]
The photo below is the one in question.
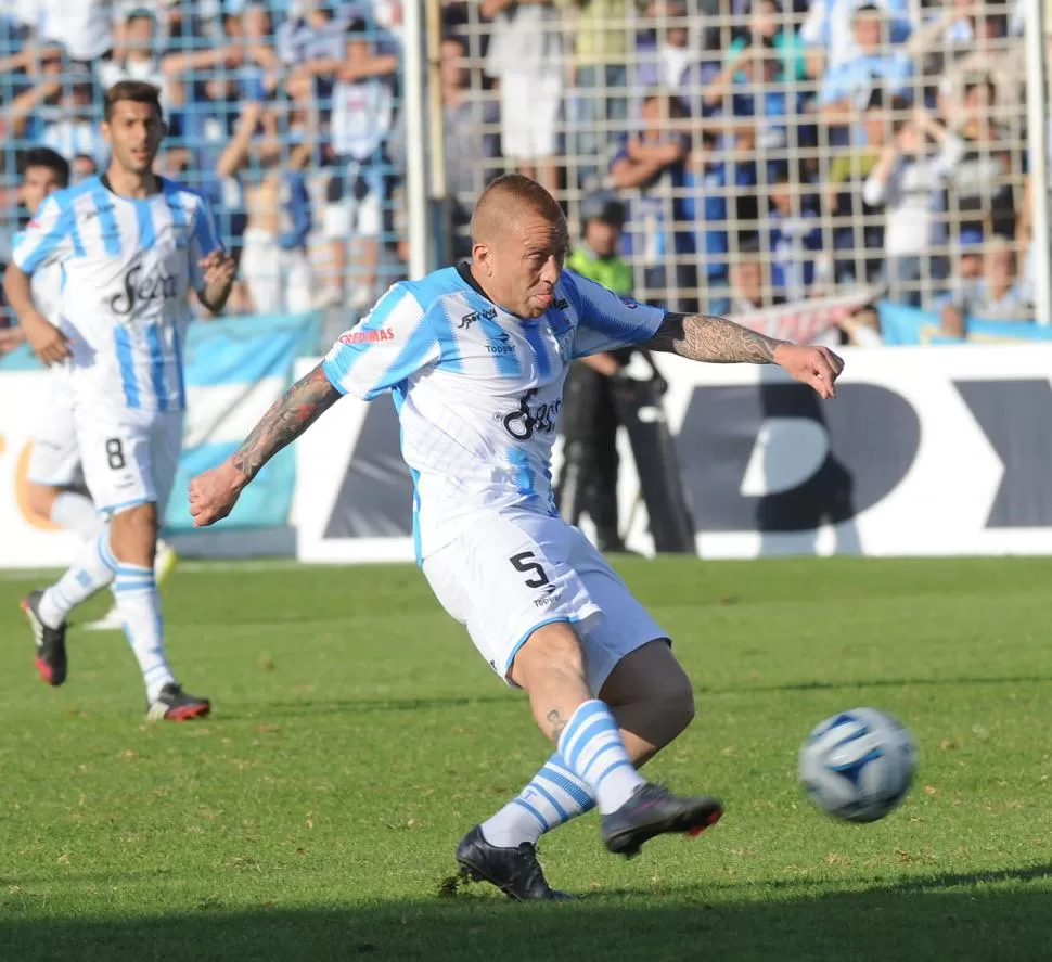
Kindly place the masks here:
[(668, 633), (588, 539), (576, 528), (574, 533), (572, 563), (603, 613), (581, 639), (588, 659), (588, 688), (598, 695), (623, 658), (657, 639), (667, 644)]

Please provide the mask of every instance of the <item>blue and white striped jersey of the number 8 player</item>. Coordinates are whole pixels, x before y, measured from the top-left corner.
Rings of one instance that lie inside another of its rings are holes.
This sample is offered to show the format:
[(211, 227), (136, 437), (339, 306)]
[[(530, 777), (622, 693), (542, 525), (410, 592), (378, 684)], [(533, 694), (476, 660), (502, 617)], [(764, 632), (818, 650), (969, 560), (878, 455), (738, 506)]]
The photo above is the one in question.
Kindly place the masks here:
[(57, 323), (73, 351), (77, 403), (115, 411), (185, 407), (181, 345), (197, 261), (220, 246), (207, 202), (170, 180), (145, 200), (92, 177), (51, 194), (18, 236), (28, 274), (57, 266)]

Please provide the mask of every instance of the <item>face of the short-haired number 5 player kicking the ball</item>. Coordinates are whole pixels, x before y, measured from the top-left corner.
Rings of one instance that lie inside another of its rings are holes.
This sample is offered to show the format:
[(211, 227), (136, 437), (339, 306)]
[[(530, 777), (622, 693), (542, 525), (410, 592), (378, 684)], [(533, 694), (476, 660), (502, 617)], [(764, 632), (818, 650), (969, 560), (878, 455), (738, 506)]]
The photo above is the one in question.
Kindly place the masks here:
[(523, 214), (491, 248), (493, 294), (521, 318), (539, 318), (555, 296), (569, 246), (566, 221)]

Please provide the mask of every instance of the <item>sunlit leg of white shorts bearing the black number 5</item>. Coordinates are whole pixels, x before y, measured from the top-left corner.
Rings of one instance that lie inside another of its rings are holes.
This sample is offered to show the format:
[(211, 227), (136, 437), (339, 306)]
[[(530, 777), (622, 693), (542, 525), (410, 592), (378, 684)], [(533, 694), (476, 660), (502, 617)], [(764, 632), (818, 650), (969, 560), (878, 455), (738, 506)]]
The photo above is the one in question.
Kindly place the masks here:
[(600, 615), (568, 563), (572, 530), (557, 517), (486, 514), (424, 562), (442, 606), (505, 680), (538, 628), (567, 621), (583, 631)]

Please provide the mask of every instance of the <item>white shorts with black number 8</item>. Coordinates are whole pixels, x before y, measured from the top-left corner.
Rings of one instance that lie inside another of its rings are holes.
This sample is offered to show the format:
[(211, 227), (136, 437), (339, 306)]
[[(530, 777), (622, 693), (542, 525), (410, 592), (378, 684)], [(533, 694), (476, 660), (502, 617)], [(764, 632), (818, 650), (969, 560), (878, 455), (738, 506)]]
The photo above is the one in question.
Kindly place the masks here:
[(119, 514), (153, 501), (164, 517), (182, 447), (182, 411), (113, 421), (78, 419), (85, 483), (101, 514)]

